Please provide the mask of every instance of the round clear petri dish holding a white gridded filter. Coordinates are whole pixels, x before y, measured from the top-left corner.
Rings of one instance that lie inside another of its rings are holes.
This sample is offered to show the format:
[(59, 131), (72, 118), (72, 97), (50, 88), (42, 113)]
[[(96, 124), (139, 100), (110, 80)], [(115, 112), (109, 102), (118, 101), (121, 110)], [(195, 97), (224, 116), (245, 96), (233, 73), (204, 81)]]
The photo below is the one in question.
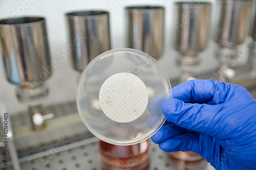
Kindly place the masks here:
[[(84, 68), (77, 87), (77, 108), (83, 123), (99, 139), (117, 145), (136, 144), (164, 124), (161, 102), (171, 96), (170, 89), (168, 77), (154, 58), (117, 48)], [(158, 105), (151, 113), (153, 99)]]

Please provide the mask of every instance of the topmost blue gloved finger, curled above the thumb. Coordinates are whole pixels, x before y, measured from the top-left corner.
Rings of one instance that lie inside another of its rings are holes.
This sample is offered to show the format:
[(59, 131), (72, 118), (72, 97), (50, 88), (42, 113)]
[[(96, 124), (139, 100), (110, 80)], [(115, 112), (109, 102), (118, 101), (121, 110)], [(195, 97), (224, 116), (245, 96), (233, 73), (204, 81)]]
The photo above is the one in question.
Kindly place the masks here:
[(237, 85), (212, 80), (189, 80), (172, 89), (174, 99), (186, 103), (220, 104), (229, 100)]

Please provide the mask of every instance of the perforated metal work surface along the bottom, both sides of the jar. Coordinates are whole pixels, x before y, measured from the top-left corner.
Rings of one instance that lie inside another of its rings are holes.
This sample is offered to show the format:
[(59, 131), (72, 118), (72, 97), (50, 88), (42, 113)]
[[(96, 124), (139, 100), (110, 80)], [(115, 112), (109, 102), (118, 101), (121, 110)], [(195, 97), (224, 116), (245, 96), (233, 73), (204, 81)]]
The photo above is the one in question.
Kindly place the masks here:
[[(53, 152), (53, 151), (52, 151)], [(151, 144), (151, 170), (173, 170), (175, 169), (168, 160), (166, 154), (161, 151), (156, 144)], [(86, 169), (96, 170), (100, 169), (100, 158), (98, 154), (98, 142), (92, 142), (87, 145), (70, 149), (67, 151), (52, 153), (50, 155), (42, 156), (27, 162), (21, 163), (24, 170), (39, 170), (39, 169), (55, 169), (55, 170), (73, 170)], [(3, 170), (13, 169), (11, 166), (3, 168)], [(206, 170), (214, 169), (207, 164)], [(139, 169), (138, 169), (139, 170)], [(184, 169), (185, 170), (185, 169)], [(186, 168), (189, 170), (189, 168)]]

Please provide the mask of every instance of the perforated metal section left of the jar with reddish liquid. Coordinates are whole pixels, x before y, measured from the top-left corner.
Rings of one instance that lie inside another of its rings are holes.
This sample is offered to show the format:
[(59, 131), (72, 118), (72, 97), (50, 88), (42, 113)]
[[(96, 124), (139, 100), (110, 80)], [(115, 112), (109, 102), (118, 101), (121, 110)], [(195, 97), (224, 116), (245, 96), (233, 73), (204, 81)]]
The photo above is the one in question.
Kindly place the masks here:
[(97, 142), (34, 159), (21, 164), (22, 169), (99, 169)]

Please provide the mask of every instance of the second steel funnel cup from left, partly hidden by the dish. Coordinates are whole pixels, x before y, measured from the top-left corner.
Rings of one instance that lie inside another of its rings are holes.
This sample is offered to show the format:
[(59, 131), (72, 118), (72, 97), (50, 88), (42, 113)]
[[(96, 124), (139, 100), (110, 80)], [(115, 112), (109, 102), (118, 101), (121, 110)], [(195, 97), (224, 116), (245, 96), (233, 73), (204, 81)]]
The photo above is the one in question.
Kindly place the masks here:
[(66, 14), (74, 69), (83, 71), (95, 57), (111, 49), (109, 13), (79, 11)]

